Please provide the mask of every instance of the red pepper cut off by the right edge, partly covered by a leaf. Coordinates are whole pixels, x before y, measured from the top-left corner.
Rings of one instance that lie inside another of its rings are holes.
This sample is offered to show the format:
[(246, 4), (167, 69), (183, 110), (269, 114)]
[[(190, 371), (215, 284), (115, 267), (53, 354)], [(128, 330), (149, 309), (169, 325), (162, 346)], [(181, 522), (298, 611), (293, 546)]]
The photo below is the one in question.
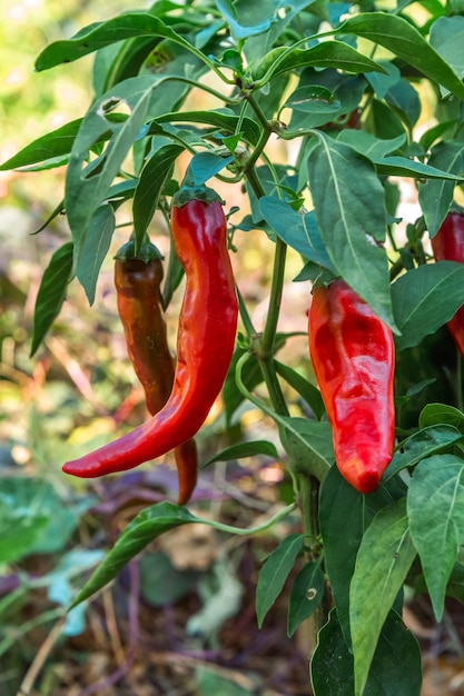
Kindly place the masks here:
[[(464, 211), (451, 211), (438, 232), (432, 239), (432, 249), (437, 261), (464, 264)], [(464, 356), (464, 305), (447, 322), (456, 347)]]

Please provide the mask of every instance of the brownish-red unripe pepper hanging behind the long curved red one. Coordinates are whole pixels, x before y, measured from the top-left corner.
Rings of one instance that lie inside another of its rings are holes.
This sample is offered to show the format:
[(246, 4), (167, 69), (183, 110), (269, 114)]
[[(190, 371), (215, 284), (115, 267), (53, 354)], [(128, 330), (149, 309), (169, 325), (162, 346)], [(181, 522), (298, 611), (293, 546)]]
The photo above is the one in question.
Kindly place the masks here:
[[(116, 255), (115, 286), (127, 350), (145, 390), (147, 408), (155, 416), (165, 406), (174, 384), (175, 361), (169, 350), (160, 285), (161, 255), (144, 242), (137, 257), (129, 241)], [(174, 450), (178, 476), (178, 504), (190, 498), (197, 483), (198, 454), (194, 439)]]

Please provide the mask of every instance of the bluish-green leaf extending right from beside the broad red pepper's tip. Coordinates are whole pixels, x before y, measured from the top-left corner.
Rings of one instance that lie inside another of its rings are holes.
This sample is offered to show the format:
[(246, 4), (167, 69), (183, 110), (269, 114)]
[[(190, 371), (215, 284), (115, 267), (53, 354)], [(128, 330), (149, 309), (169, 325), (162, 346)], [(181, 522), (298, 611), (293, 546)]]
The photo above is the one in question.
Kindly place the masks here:
[[(461, 420), (464, 425), (464, 416), (462, 414)], [(401, 444), (398, 451), (384, 474), (383, 480), (389, 480), (402, 469), (413, 467), (422, 459), (457, 445), (462, 440), (462, 432), (453, 426), (431, 425), (418, 430), (418, 432), (414, 432)]]

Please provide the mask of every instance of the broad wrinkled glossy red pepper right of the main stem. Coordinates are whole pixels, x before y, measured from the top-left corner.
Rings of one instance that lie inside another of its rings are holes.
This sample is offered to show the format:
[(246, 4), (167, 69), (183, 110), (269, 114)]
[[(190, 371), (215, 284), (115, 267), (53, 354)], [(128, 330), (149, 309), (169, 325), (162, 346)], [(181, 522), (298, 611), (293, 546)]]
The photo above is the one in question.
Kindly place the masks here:
[(342, 279), (314, 288), (308, 331), (338, 469), (356, 490), (373, 493), (394, 443), (392, 331)]

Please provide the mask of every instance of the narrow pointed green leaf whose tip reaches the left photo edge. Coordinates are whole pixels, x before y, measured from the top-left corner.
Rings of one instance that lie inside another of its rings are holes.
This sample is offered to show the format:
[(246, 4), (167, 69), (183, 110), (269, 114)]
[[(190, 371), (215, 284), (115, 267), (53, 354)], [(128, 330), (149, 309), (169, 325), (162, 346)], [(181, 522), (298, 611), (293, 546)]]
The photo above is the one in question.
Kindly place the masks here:
[(36, 165), (37, 162), (45, 162), (56, 157), (62, 158), (63, 155), (69, 155), (81, 122), (82, 119), (76, 119), (37, 140), (32, 140), (26, 148), (0, 165), (0, 171), (19, 169), (21, 167)]

